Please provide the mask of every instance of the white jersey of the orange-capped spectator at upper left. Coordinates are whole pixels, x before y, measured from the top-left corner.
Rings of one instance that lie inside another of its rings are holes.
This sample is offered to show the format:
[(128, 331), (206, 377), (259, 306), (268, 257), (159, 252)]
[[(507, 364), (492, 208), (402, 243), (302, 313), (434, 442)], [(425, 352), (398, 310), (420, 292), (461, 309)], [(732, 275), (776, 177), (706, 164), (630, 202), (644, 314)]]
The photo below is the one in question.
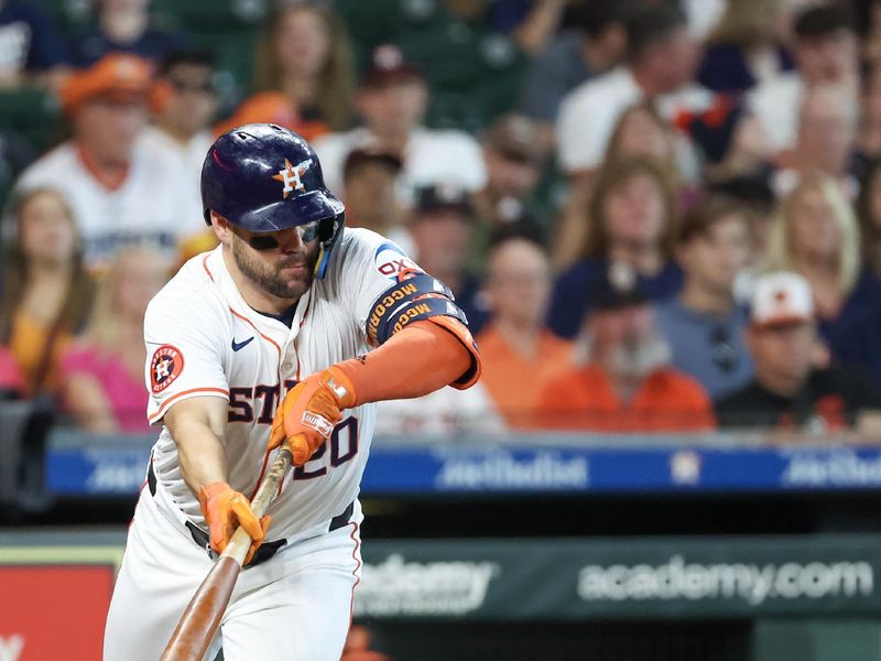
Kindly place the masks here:
[[(126, 246), (145, 245), (175, 259), (177, 242), (204, 230), (202, 215), (187, 208), (187, 186), (177, 167), (137, 143), (126, 178), (117, 188), (99, 182), (67, 141), (37, 159), (15, 184), (17, 193), (55, 188), (73, 209), (86, 263), (100, 269)], [(191, 205), (192, 206), (192, 205)]]

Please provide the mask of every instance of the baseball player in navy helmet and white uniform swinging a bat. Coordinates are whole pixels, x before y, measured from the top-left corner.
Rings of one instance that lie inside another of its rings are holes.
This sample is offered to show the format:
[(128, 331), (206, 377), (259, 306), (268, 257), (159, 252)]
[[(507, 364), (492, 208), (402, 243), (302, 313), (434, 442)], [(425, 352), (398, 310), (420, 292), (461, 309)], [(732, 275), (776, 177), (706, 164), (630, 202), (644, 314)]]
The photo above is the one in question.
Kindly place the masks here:
[[(254, 543), (208, 659), (337, 661), (361, 566), (372, 402), (468, 388), (480, 359), (443, 283), (379, 235), (342, 231), (342, 204), (295, 133), (222, 134), (202, 197), (220, 246), (146, 311), (148, 418), (163, 427), (104, 658), (155, 661), (242, 525)], [(295, 468), (258, 520), (249, 499), (283, 444)]]

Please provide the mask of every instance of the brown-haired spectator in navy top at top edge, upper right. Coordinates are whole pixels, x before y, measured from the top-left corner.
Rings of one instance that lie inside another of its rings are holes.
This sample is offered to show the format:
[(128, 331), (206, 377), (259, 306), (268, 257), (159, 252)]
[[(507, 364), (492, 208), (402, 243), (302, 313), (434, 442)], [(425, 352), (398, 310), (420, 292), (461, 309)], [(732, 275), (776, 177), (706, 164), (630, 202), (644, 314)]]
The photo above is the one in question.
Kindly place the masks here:
[(792, 71), (784, 47), (792, 20), (790, 0), (728, 0), (707, 36), (697, 79), (714, 91), (741, 93)]

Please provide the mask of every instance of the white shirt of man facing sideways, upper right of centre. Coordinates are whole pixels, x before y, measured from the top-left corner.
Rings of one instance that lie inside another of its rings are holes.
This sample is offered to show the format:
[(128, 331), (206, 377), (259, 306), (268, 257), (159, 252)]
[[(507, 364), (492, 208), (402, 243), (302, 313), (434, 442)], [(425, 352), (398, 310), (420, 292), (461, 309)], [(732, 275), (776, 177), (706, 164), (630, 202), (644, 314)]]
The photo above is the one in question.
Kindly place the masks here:
[[(563, 170), (570, 173), (598, 167), (618, 118), (644, 97), (626, 66), (591, 78), (567, 94), (557, 119), (557, 156)], [(709, 90), (692, 85), (659, 97), (657, 110), (662, 117), (673, 119), (678, 111), (704, 109), (711, 102)], [(677, 144), (676, 149), (677, 159), (687, 164), (687, 145)]]

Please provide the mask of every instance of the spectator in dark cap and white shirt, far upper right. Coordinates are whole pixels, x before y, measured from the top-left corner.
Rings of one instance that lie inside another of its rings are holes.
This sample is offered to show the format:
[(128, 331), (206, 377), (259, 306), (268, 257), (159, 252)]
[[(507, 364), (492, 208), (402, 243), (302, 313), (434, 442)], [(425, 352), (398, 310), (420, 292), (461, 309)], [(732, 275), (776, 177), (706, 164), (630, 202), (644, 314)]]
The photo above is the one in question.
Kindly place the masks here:
[(749, 107), (762, 122), (773, 152), (795, 143), (805, 89), (833, 85), (856, 102), (859, 53), (848, 9), (841, 3), (812, 6), (797, 17), (794, 31), (797, 71), (766, 78), (749, 94)]

